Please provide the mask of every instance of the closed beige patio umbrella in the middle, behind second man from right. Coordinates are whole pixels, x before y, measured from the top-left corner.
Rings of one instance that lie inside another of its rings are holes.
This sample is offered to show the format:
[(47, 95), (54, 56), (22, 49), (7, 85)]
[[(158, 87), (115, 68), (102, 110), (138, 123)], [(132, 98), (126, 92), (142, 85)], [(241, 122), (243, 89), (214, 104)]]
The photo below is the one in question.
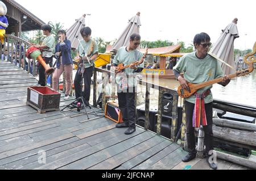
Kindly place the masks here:
[(141, 13), (138, 12), (137, 15), (133, 16), (133, 18), (129, 19), (129, 23), (125, 30), (122, 32), (121, 36), (117, 39), (111, 52), (117, 52), (117, 50), (121, 47), (125, 47), (130, 43), (130, 36), (133, 33), (139, 33), (139, 27), (141, 26), (140, 16)]

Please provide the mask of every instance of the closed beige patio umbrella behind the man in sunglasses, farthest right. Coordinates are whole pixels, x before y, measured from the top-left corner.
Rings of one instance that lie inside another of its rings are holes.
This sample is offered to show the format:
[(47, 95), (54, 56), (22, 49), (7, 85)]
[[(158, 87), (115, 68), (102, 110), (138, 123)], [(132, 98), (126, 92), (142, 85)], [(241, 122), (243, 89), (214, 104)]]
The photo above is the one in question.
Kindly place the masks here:
[[(216, 43), (213, 45), (209, 54), (218, 57), (227, 64), (234, 68), (234, 40), (239, 37), (237, 29), (237, 18), (234, 18), (233, 22), (230, 23), (224, 30), (222, 30), (221, 36), (218, 38)], [(228, 65), (221, 63), (221, 68), (225, 75), (234, 74), (236, 70), (230, 68)]]

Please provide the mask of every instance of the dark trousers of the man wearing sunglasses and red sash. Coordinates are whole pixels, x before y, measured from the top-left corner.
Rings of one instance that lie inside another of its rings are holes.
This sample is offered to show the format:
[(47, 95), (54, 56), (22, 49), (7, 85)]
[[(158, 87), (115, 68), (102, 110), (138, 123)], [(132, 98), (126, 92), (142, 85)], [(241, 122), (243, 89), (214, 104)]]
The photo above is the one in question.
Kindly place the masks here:
[[(193, 111), (195, 104), (185, 102), (185, 113), (187, 121), (187, 142), (188, 150), (191, 153), (196, 153), (196, 140), (195, 140), (195, 128), (193, 128)], [(212, 103), (205, 104), (205, 113), (207, 116), (207, 126), (204, 127), (204, 145), (205, 151), (208, 154), (210, 150), (213, 150), (213, 131), (212, 131)]]

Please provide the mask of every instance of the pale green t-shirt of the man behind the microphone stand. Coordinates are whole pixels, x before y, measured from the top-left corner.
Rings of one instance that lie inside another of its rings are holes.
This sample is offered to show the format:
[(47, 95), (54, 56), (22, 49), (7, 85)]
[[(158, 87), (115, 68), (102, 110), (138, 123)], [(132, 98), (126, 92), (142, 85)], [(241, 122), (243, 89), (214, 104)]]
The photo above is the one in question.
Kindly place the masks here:
[[(81, 40), (81, 44), (82, 47), (85, 50), (85, 53), (88, 55), (88, 58), (92, 57), (95, 53), (98, 53), (98, 45), (96, 43), (96, 41), (94, 41), (94, 46), (93, 46), (93, 52), (91, 54), (90, 53), (90, 48), (91, 48), (91, 44), (92, 44), (92, 39), (90, 39), (89, 41), (85, 41), (85, 40)], [(77, 48), (78, 52), (79, 52), (79, 56), (80, 57), (84, 57), (84, 54), (82, 54), (82, 52), (84, 51), (82, 49), (81, 45), (79, 44), (79, 47)], [(90, 62), (92, 65), (89, 64), (89, 62), (85, 62), (84, 66), (85, 68), (89, 68), (90, 66), (94, 66), (94, 62)]]

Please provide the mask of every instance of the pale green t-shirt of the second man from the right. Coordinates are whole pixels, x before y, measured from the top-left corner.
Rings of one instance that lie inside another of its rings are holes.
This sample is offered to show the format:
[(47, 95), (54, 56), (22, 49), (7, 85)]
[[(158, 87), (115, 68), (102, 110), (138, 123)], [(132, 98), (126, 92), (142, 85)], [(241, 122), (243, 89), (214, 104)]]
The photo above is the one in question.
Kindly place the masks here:
[[(128, 52), (126, 50), (126, 47), (121, 47), (114, 58), (113, 63), (114, 64), (123, 64), (124, 66), (133, 64), (136, 61), (141, 60), (143, 57), (143, 53), (139, 52), (139, 50), (133, 50), (131, 52)], [(138, 65), (139, 68), (144, 68), (144, 62), (141, 65)], [(124, 74), (128, 78), (127, 84), (129, 87), (135, 87), (137, 86), (137, 79), (136, 75), (137, 73), (134, 72), (134, 69), (126, 68), (124, 71)], [(119, 83), (122, 79), (122, 76), (120, 74), (117, 74), (115, 80), (117, 83)]]

